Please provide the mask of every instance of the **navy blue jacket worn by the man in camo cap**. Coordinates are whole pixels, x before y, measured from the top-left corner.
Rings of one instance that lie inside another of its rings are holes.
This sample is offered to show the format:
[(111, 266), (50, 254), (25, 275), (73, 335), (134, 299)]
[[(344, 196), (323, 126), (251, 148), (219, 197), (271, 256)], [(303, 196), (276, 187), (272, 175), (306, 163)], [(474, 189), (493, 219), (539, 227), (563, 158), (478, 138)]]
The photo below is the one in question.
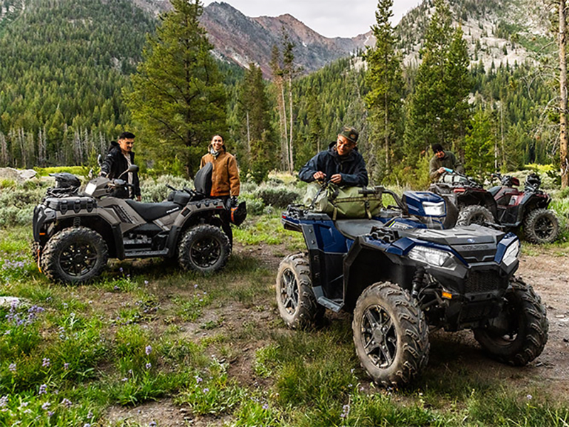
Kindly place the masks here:
[(336, 142), (331, 142), (327, 150), (319, 152), (305, 164), (298, 173), (299, 179), (306, 182), (314, 181), (316, 172), (324, 172), (326, 179), (334, 174), (341, 174), (340, 185), (368, 185), (368, 171), (363, 156), (354, 148), (347, 156), (339, 156), (336, 152)]

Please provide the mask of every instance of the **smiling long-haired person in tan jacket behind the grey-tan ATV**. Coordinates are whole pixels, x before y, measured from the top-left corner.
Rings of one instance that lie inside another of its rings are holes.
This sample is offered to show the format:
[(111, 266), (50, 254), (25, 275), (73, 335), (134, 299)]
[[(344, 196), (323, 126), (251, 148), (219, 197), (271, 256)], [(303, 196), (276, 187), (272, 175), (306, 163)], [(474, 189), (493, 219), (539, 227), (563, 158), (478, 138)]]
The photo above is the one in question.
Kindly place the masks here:
[(239, 196), (239, 170), (235, 157), (225, 151), (225, 144), (220, 135), (215, 135), (208, 146), (208, 154), (201, 158), (200, 169), (211, 162), (211, 196), (229, 198)]

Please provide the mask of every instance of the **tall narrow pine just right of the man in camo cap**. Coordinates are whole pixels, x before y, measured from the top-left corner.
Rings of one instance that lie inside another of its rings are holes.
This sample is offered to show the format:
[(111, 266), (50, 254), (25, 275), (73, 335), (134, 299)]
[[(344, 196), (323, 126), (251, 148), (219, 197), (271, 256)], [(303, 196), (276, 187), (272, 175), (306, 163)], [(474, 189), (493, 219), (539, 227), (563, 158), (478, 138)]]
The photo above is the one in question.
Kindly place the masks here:
[[(401, 97), (403, 78), (401, 61), (395, 52), (395, 35), (389, 19), (393, 16), (393, 0), (378, 0), (376, 25), (372, 27), (376, 46), (366, 53), (368, 71), (366, 82), (371, 90), (366, 95), (369, 139), (371, 148), (376, 154), (375, 162), (368, 162), (368, 169), (375, 169), (376, 174), (383, 169), (387, 173), (393, 145), (398, 142), (401, 119)], [(383, 152), (383, 156), (379, 155)], [(385, 159), (385, 163), (383, 163)], [(382, 168), (381, 165), (384, 165)], [(378, 174), (382, 179), (382, 174)]]

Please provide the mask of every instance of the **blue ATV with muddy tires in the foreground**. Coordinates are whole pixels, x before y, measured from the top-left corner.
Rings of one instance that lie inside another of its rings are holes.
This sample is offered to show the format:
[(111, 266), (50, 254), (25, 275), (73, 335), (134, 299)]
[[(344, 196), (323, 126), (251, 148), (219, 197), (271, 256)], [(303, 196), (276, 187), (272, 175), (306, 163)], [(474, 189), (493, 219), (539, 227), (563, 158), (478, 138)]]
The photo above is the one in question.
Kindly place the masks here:
[(420, 374), (429, 332), (440, 328), (472, 329), (500, 362), (536, 359), (548, 320), (540, 297), (514, 277), (519, 239), (478, 225), (443, 229), (445, 209), (436, 197), (406, 194), (371, 219), (332, 221), (289, 206), (282, 223), (304, 235), (308, 251), (285, 257), (277, 273), (287, 326), (312, 327), (326, 309), (353, 313), (356, 354), (383, 386), (404, 386)]

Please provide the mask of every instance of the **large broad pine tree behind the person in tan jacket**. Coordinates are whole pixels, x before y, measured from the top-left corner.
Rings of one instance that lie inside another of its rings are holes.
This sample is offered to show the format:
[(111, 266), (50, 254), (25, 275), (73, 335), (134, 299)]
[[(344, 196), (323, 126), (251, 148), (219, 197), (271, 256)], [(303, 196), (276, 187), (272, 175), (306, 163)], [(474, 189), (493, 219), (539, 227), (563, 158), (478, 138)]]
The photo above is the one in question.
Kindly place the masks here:
[(213, 45), (199, 23), (201, 1), (171, 4), (174, 10), (147, 40), (126, 98), (154, 159), (176, 159), (192, 175), (211, 135), (226, 129), (226, 96)]

